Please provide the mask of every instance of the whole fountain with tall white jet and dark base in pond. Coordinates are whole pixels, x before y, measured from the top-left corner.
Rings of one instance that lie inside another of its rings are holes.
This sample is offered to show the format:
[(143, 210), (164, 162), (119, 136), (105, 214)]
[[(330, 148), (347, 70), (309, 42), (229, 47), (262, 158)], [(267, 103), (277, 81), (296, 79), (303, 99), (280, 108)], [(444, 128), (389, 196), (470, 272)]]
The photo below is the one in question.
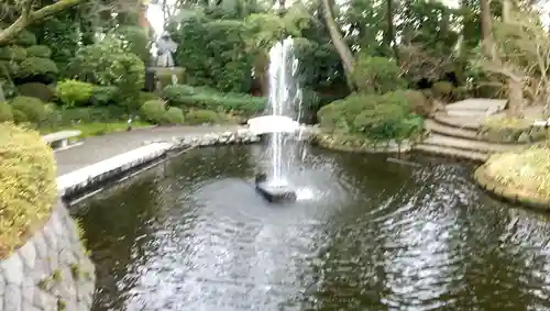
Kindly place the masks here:
[(294, 147), (287, 147), (287, 144), (294, 141), (293, 135), (301, 129), (301, 92), (295, 78), (297, 67), (290, 37), (272, 47), (267, 115), (249, 120), (252, 132), (270, 135), (271, 175), (256, 176), (255, 185), (256, 190), (271, 202), (296, 200), (296, 191), (286, 176), (294, 156)]

